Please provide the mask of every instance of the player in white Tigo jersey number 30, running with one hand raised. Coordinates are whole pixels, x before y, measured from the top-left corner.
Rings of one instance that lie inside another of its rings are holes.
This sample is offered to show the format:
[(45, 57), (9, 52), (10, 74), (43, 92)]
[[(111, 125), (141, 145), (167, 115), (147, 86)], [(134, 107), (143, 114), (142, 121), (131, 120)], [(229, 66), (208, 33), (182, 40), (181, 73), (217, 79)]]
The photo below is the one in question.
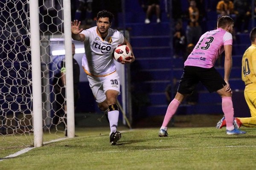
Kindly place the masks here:
[(110, 144), (116, 144), (121, 138), (121, 133), (117, 131), (119, 118), (117, 96), (120, 94), (120, 82), (112, 54), (117, 45), (125, 44), (130, 48), (131, 56), (130, 60), (121, 63), (134, 62), (135, 57), (128, 40), (119, 31), (110, 28), (112, 20), (111, 12), (99, 11), (97, 26), (83, 30), (80, 28), (81, 22), (74, 20), (71, 22), (71, 32), (74, 40), (84, 42), (85, 54), (82, 58), (82, 66), (99, 109), (108, 112)]

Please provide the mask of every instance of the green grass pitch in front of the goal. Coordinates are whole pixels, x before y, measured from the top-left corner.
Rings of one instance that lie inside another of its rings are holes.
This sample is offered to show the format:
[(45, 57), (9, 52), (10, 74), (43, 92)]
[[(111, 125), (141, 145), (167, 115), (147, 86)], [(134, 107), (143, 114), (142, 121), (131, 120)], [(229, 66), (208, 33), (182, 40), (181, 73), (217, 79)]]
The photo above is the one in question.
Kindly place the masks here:
[[(256, 129), (226, 135), (225, 128), (171, 127), (168, 137), (159, 128), (119, 127), (122, 138), (109, 144), (108, 127), (77, 128), (73, 139), (44, 144), (15, 158), (0, 161), (1, 170), (253, 170)], [(51, 137), (44, 135), (44, 139)], [(1, 143), (0, 143), (1, 146)], [(0, 150), (0, 158), (20, 148)]]

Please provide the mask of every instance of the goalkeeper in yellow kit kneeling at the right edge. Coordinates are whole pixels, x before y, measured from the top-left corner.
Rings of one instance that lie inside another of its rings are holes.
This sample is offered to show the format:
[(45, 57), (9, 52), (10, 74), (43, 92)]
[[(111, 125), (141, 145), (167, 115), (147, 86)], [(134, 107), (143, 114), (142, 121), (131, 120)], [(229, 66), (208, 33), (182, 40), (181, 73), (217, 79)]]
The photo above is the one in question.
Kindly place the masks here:
[[(244, 52), (242, 58), (242, 80), (245, 83), (244, 98), (250, 109), (251, 117), (236, 117), (234, 120), (234, 126), (239, 128), (256, 127), (256, 27), (250, 32), (251, 45)], [(218, 123), (217, 128), (226, 126), (225, 117), (223, 117)]]

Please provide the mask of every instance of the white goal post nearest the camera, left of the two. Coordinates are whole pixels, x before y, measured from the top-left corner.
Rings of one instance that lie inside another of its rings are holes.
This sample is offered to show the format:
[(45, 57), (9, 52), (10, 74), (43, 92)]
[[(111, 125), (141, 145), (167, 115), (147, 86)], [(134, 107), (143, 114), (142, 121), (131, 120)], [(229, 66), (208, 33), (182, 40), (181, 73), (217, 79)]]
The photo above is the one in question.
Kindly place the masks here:
[(30, 12), (30, 44), (32, 63), (32, 101), (33, 101), (33, 131), (34, 146), (43, 144), (43, 122), (42, 122), (42, 90), (41, 90), (41, 52), (40, 52), (40, 28), (39, 8), (37, 0), (29, 0)]

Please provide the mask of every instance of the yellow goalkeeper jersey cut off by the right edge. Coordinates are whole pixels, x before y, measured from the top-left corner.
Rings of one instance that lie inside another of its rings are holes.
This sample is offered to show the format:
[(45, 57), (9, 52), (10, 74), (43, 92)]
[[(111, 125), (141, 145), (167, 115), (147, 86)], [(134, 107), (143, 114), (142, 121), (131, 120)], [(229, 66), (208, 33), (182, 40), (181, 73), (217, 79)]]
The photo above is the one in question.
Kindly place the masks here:
[(245, 85), (256, 83), (256, 45), (252, 44), (242, 58), (242, 80)]

